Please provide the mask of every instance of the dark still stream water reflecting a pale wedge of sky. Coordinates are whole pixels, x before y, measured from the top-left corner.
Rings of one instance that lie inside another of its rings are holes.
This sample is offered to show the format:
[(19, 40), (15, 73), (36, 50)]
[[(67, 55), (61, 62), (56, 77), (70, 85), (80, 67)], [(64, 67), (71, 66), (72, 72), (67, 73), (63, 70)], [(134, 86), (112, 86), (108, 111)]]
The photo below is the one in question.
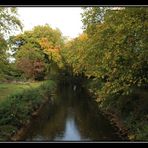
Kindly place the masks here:
[(83, 90), (61, 88), (54, 99), (34, 119), (25, 141), (121, 141)]

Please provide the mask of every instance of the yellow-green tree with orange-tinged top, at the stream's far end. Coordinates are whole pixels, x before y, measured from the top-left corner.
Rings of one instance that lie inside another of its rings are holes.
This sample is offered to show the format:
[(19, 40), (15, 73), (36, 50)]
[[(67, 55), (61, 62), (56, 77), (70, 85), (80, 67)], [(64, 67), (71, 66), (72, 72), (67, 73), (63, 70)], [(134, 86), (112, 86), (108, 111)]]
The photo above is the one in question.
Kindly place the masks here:
[(83, 33), (67, 42), (62, 50), (65, 63), (71, 67), (73, 73), (76, 75), (82, 75), (86, 72), (87, 61), (85, 58), (87, 56), (87, 50), (85, 47), (87, 41), (87, 34)]

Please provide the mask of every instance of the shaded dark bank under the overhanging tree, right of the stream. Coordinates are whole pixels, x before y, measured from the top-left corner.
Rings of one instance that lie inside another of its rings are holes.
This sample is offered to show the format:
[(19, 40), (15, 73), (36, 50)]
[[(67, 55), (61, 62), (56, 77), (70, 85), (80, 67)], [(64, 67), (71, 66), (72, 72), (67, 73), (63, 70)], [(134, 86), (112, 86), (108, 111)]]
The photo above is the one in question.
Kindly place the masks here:
[[(148, 91), (147, 89), (132, 89), (132, 93), (122, 96), (99, 98), (99, 83), (89, 81), (85, 86), (97, 98), (98, 106), (109, 119), (115, 123), (123, 135), (131, 141), (148, 140)], [(125, 132), (125, 133), (124, 133)]]

